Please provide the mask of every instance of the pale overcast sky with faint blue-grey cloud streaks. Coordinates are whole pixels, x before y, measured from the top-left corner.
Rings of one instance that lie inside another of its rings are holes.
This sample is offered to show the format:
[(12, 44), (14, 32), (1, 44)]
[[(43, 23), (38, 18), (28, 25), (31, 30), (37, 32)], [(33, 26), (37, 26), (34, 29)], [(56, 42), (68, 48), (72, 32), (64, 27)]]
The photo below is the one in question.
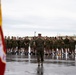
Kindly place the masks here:
[(76, 35), (76, 0), (2, 0), (6, 36)]

